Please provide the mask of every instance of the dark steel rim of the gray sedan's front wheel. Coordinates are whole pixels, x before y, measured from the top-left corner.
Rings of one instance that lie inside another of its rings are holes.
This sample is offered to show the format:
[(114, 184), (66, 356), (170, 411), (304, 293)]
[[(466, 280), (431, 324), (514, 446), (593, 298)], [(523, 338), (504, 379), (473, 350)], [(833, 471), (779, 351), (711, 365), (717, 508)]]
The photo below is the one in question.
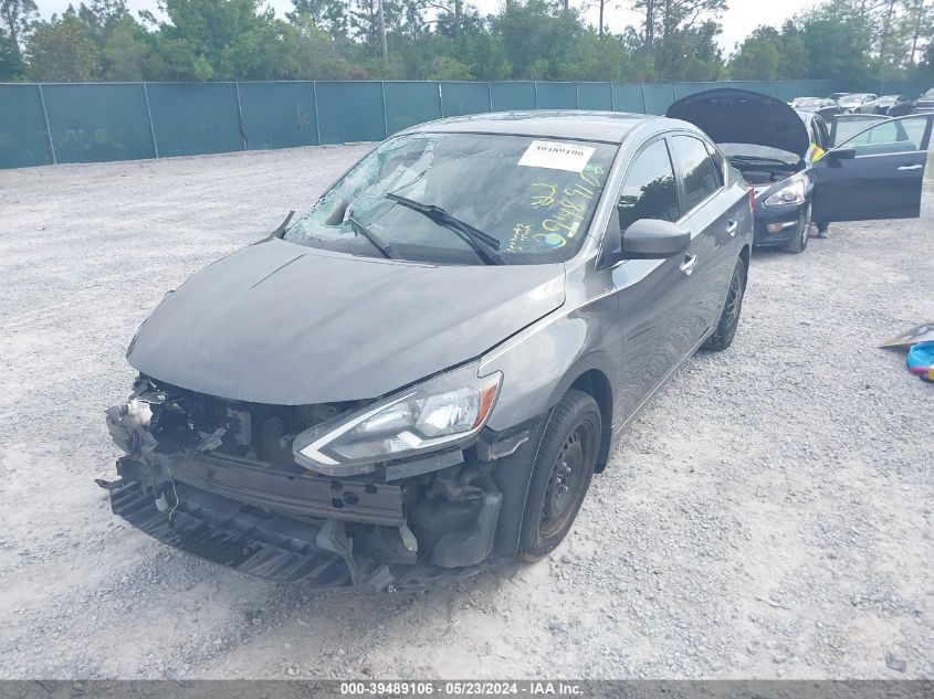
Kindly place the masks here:
[(559, 532), (576, 511), (580, 491), (587, 483), (586, 469), (591, 467), (589, 457), (592, 453), (592, 430), (589, 423), (583, 422), (567, 436), (552, 464), (538, 523), (543, 539)]

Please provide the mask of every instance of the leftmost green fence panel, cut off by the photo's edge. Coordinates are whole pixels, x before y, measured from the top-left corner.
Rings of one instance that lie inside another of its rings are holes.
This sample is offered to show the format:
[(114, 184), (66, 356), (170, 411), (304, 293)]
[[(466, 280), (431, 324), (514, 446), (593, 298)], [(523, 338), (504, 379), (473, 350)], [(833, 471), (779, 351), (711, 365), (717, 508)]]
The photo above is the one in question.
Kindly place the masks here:
[(39, 85), (0, 85), (0, 168), (51, 163)]

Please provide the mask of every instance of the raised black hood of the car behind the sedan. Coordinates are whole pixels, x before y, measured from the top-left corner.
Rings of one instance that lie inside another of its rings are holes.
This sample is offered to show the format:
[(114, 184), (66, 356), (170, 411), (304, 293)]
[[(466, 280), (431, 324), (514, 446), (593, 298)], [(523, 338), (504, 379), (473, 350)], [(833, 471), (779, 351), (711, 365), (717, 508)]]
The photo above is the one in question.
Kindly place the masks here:
[(810, 138), (786, 103), (768, 95), (722, 87), (682, 97), (665, 116), (690, 121), (718, 144), (768, 146), (804, 157)]

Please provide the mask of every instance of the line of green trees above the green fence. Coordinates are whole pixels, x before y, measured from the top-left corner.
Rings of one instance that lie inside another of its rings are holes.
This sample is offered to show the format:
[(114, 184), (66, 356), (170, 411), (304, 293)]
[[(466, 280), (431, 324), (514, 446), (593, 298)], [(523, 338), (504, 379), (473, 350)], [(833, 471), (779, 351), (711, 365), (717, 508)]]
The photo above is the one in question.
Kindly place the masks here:
[(607, 0), (505, 0), (489, 15), (466, 0), (292, 1), (282, 18), (260, 0), (160, 0), (136, 17), (87, 0), (43, 20), (34, 0), (0, 0), (0, 81), (934, 80), (934, 0), (826, 0), (726, 53), (726, 0), (628, 0), (639, 22), (620, 33)]

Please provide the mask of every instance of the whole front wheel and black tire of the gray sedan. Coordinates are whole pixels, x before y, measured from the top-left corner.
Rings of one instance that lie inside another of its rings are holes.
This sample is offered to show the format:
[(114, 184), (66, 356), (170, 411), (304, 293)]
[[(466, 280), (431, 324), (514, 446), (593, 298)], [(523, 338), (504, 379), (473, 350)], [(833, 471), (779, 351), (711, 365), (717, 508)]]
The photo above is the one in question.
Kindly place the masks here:
[[(532, 468), (516, 558), (534, 563), (567, 536), (597, 466), (600, 407), (571, 389), (548, 419)], [(563, 489), (562, 489), (563, 488)]]

